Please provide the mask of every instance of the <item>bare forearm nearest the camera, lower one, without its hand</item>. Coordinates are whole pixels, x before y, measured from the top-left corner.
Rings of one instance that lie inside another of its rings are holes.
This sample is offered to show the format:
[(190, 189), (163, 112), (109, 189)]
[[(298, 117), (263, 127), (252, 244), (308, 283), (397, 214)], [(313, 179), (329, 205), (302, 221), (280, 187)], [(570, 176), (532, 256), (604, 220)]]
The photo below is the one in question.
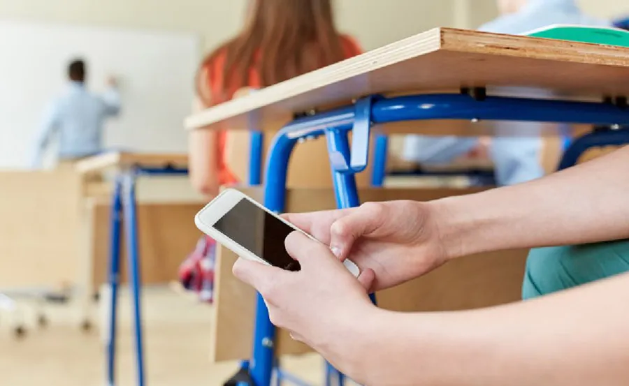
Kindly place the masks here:
[(629, 384), (629, 276), (479, 311), (377, 311), (352, 373), (366, 385)]

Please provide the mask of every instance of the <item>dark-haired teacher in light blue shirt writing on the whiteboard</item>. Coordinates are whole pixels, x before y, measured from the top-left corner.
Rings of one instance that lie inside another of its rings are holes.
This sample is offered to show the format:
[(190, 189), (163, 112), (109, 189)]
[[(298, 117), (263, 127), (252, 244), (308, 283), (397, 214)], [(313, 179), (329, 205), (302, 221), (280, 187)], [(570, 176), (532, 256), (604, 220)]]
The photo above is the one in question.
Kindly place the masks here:
[(60, 166), (102, 151), (103, 124), (120, 112), (120, 93), (116, 80), (110, 77), (104, 94), (92, 94), (85, 86), (86, 75), (85, 61), (75, 60), (68, 66), (68, 86), (44, 114), (34, 168), (41, 168), (45, 149), (55, 135), (59, 135)]

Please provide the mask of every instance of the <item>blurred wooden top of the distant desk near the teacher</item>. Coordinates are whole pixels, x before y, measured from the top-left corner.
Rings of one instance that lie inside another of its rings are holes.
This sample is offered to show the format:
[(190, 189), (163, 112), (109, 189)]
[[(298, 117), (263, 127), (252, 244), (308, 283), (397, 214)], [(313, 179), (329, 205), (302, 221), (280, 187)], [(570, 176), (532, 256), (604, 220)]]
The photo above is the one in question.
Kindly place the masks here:
[(130, 168), (138, 165), (145, 168), (159, 168), (166, 165), (186, 168), (187, 154), (154, 154), (154, 153), (106, 153), (80, 161), (76, 165), (78, 172), (87, 174), (101, 172), (110, 168)]

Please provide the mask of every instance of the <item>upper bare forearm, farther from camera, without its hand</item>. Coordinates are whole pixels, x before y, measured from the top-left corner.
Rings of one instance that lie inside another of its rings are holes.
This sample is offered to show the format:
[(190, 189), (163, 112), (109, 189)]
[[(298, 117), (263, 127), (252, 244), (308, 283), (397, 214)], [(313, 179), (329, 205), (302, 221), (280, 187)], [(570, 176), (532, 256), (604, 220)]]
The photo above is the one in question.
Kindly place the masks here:
[(629, 147), (526, 184), (431, 203), (450, 257), (629, 237)]

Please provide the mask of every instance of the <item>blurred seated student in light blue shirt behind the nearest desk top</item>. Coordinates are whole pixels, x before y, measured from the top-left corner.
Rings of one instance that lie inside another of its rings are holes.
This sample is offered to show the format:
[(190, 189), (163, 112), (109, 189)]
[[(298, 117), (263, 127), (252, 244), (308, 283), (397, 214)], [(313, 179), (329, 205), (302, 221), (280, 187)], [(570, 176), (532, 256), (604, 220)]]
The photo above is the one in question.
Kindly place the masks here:
[[(575, 0), (498, 0), (498, 8), (500, 17), (481, 26), (481, 31), (524, 34), (551, 24), (611, 25), (611, 22), (584, 15)], [(531, 89), (503, 88), (493, 91), (511, 96), (549, 96), (547, 92)], [(498, 185), (519, 184), (542, 177), (542, 139), (535, 136), (541, 124), (508, 122), (500, 124), (497, 130), (508, 132), (517, 130), (517, 126), (525, 126), (523, 129), (529, 131), (531, 136), (505, 136), (489, 140), (409, 135), (405, 139), (403, 158), (424, 165), (442, 165), (465, 154), (489, 154)]]

